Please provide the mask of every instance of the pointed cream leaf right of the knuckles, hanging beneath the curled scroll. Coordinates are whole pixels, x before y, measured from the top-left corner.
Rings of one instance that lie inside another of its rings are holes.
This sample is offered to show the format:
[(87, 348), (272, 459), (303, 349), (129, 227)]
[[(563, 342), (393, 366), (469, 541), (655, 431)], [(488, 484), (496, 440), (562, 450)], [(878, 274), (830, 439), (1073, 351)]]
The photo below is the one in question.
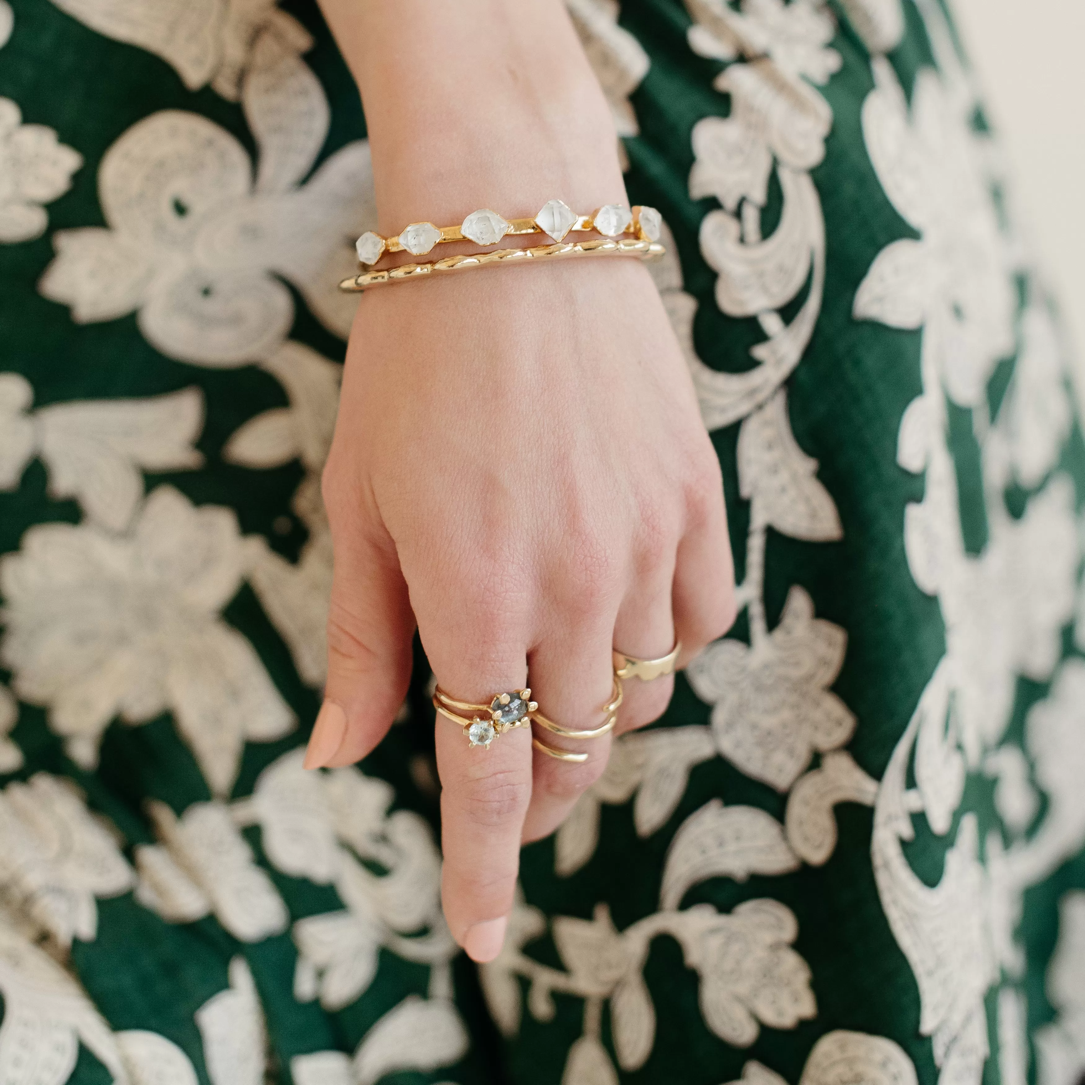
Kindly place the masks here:
[(837, 506), (818, 482), (817, 460), (799, 447), (791, 432), (787, 393), (781, 388), (739, 431), (740, 493), (755, 514), (782, 535), (808, 542), (843, 537)]

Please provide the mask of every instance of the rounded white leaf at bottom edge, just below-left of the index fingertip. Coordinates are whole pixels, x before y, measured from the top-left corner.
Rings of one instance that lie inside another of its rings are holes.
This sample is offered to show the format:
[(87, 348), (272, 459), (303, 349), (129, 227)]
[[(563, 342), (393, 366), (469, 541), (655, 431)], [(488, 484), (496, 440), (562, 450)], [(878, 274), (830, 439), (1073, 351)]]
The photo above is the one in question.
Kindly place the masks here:
[(470, 1041), (456, 1007), (442, 999), (409, 995), (366, 1033), (354, 1055), (358, 1085), (396, 1071), (423, 1073), (458, 1062)]

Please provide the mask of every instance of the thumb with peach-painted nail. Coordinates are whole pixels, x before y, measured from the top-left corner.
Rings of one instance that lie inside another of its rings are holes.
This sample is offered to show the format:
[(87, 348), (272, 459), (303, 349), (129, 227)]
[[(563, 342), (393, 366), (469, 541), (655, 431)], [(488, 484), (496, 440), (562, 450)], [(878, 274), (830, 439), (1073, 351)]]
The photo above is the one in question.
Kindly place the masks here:
[(414, 615), (391, 537), (357, 522), (336, 534), (328, 682), (306, 768), (361, 761), (387, 733), (410, 680)]

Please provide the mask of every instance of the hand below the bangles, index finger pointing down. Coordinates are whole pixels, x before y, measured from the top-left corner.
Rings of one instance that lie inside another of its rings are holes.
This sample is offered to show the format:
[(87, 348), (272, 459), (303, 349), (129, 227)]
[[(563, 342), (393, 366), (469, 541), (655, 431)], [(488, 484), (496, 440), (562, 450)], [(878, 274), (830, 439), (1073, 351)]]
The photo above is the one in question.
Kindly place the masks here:
[[(477, 270), (367, 292), (324, 472), (335, 573), (327, 702), (307, 764), (346, 765), (387, 731), (417, 618), (443, 689), (529, 685), (566, 727), (603, 723), (612, 646), (684, 658), (735, 615), (715, 452), (648, 270), (597, 259)], [(679, 665), (682, 661), (679, 661)], [(673, 678), (626, 684), (618, 730), (655, 719)], [(470, 749), (438, 716), (443, 899), (476, 960), (496, 956), (521, 841), (551, 832), (610, 737), (531, 733)]]

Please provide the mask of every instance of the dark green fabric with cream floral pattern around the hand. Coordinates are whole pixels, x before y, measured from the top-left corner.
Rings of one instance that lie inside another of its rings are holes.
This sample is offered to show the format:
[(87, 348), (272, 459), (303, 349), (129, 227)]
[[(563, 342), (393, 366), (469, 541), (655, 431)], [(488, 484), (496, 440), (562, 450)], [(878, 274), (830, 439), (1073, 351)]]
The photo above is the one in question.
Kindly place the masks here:
[(569, 0), (741, 613), (439, 908), (421, 651), (305, 773), (374, 225), (309, 0), (0, 0), (0, 1083), (1075, 1085), (1085, 441), (941, 0)]

